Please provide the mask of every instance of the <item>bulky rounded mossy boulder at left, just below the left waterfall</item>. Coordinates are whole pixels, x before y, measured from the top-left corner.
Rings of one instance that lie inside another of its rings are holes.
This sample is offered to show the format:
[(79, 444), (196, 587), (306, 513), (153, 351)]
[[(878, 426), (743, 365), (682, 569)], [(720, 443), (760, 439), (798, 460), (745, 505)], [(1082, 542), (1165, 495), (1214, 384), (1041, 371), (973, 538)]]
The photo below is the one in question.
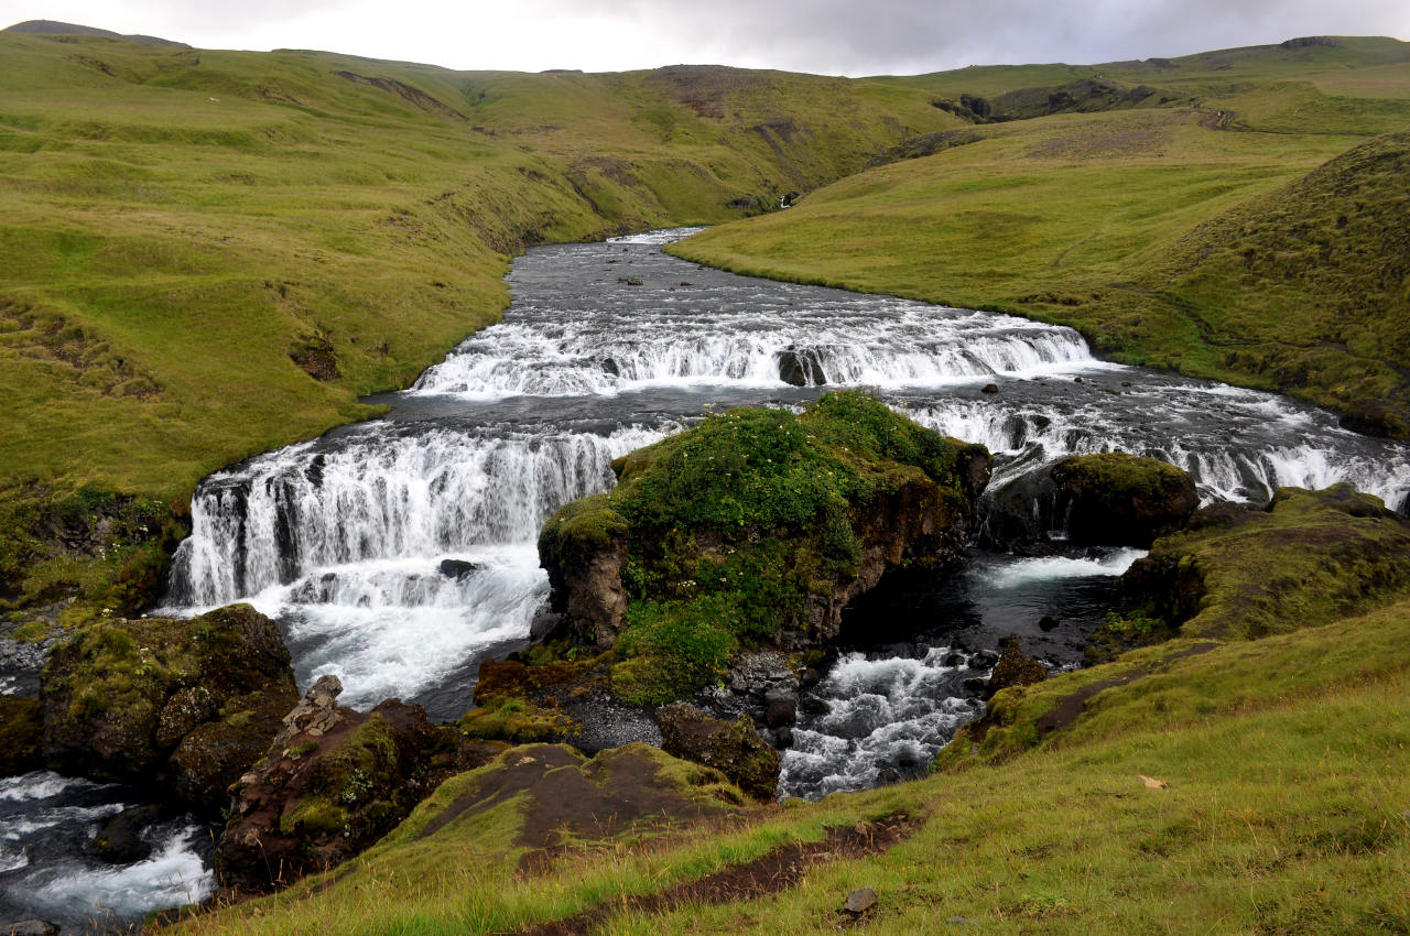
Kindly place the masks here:
[(248, 605), (89, 626), (55, 647), (39, 695), (52, 767), (207, 812), (299, 698), (278, 626)]

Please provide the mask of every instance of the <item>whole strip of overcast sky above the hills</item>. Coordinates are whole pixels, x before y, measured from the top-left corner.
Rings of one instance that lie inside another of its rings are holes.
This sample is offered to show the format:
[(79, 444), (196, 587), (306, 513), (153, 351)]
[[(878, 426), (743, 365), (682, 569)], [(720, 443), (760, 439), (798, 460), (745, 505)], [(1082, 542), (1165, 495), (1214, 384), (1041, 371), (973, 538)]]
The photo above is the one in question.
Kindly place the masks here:
[(1176, 56), (1296, 35), (1410, 38), (1410, 0), (0, 0), (202, 48), (314, 48), (457, 69), (677, 63), (823, 75)]

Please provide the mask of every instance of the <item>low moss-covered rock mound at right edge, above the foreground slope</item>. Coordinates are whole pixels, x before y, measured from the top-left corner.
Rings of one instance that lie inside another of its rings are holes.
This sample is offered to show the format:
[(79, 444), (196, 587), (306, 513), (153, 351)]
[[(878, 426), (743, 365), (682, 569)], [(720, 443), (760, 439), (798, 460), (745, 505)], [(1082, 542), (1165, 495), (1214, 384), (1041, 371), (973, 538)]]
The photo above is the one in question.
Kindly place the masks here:
[(1340, 484), (1263, 510), (1206, 507), (1121, 578), (1132, 609), (1186, 636), (1324, 624), (1410, 591), (1410, 520)]

